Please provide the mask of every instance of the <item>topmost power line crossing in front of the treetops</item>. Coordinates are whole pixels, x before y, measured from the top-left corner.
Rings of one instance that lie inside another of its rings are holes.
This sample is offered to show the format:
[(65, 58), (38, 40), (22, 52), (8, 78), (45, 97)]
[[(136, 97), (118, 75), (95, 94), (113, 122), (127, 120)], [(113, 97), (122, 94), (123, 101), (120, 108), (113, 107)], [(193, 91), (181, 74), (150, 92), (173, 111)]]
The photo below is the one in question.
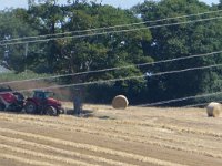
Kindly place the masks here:
[(181, 15), (181, 17), (172, 17), (172, 18), (159, 19), (159, 20), (153, 20), (153, 21), (143, 21), (143, 22), (137, 22), (137, 23), (129, 23), (129, 24), (119, 24), (119, 25), (113, 25), (113, 27), (95, 28), (95, 29), (88, 29), (88, 30), (78, 30), (78, 31), (70, 31), (70, 32), (63, 32), (63, 33), (57, 33), (57, 34), (24, 37), (24, 38), (11, 39), (11, 40), (2, 40), (0, 42), (2, 43), (2, 42), (11, 42), (11, 41), (18, 41), (18, 40), (27, 40), (27, 39), (36, 39), (36, 38), (67, 35), (67, 34), (72, 34), (72, 33), (91, 32), (91, 31), (97, 31), (97, 30), (109, 30), (109, 29), (114, 29), (114, 28), (125, 28), (125, 27), (140, 25), (140, 24), (145, 24), (145, 23), (157, 23), (157, 22), (169, 21), (169, 20), (174, 20), (174, 19), (182, 19), (182, 18), (189, 18), (189, 17), (195, 17), (195, 15), (218, 13), (218, 12), (221, 12), (221, 11), (222, 10), (208, 11), (208, 12), (202, 12), (202, 13), (186, 14), (186, 15)]

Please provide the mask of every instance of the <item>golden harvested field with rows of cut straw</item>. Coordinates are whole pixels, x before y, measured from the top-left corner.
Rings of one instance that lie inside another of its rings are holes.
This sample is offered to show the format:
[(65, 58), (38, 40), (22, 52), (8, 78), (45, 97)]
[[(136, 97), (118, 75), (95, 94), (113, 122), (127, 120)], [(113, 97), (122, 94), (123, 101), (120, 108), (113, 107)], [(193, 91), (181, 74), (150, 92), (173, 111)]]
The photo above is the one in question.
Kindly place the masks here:
[(81, 117), (1, 112), (0, 165), (222, 165), (222, 117), (205, 110), (84, 110)]

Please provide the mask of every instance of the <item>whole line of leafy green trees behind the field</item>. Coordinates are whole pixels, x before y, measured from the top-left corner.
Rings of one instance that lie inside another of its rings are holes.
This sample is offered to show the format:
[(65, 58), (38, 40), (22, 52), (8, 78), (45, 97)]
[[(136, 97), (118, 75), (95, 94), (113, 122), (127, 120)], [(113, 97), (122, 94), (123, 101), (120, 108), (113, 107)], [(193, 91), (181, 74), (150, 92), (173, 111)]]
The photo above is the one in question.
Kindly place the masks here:
[[(145, 0), (129, 10), (87, 0), (68, 0), (65, 4), (57, 0), (29, 0), (28, 4), (28, 9), (0, 12), (0, 60), (6, 60), (18, 73), (28, 69), (36, 73), (68, 74), (130, 66), (60, 80), (68, 84), (144, 75), (85, 86), (87, 100), (100, 103), (110, 102), (117, 94), (127, 95), (132, 104), (142, 104), (222, 91), (222, 68), (154, 75), (220, 64), (221, 53), (138, 65), (221, 51), (222, 1), (208, 6), (198, 0)], [(61, 34), (54, 35), (58, 33)], [(17, 38), (21, 39), (12, 40)], [(186, 105), (220, 97), (170, 104)]]

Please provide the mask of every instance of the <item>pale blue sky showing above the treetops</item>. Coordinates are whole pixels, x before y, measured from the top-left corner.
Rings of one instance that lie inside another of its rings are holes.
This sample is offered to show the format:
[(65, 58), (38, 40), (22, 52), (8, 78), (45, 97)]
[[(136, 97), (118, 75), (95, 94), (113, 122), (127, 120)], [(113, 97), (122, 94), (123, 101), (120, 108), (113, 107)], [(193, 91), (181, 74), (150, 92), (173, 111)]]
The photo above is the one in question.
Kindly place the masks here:
[[(59, 0), (60, 3), (67, 0)], [(219, 3), (219, 0), (200, 0), (208, 4)], [(143, 2), (143, 0), (102, 0), (103, 4), (111, 4), (123, 9), (129, 9), (132, 6)], [(0, 0), (0, 10), (6, 8), (27, 8), (27, 0)]]

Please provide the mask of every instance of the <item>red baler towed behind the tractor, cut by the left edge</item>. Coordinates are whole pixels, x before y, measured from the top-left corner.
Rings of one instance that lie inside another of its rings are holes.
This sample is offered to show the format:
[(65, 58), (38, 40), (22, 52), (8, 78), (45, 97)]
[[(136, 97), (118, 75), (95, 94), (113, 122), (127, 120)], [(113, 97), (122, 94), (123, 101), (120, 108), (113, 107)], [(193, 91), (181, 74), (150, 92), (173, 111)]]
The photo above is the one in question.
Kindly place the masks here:
[(21, 112), (24, 97), (21, 93), (13, 92), (8, 85), (0, 86), (0, 111)]

